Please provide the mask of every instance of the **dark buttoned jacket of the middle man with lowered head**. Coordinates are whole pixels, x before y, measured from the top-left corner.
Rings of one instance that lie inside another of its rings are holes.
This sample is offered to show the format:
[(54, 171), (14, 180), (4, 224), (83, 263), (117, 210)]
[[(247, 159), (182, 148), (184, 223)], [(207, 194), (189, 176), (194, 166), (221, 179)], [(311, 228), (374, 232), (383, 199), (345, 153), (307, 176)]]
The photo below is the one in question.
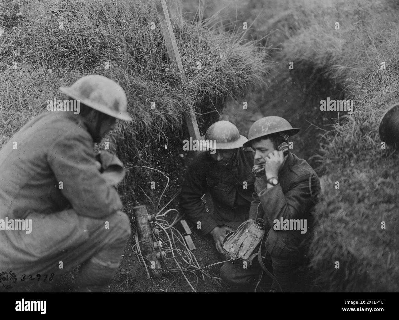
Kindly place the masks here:
[[(239, 148), (233, 163), (221, 166), (209, 151), (200, 151), (190, 164), (182, 187), (180, 204), (183, 212), (207, 234), (218, 225), (236, 229), (248, 219), (254, 177), (254, 151)], [(201, 197), (209, 192), (213, 201), (212, 216), (206, 212)]]

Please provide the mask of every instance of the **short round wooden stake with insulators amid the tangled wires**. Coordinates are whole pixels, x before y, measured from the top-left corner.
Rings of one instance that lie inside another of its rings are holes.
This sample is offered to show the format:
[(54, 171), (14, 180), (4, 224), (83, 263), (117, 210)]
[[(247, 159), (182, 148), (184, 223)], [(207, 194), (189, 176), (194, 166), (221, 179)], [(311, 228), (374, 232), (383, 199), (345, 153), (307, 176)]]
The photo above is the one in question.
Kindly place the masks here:
[[(151, 265), (155, 269), (162, 269), (159, 260), (156, 258), (156, 250), (154, 248), (155, 241), (152, 238), (146, 206), (136, 206), (133, 208), (133, 212), (136, 217), (138, 240), (142, 241), (140, 242), (141, 254), (147, 259), (144, 259), (144, 261), (148, 265), (149, 269), (152, 269)], [(154, 270), (154, 274), (157, 278), (160, 277), (160, 272), (160, 270)]]

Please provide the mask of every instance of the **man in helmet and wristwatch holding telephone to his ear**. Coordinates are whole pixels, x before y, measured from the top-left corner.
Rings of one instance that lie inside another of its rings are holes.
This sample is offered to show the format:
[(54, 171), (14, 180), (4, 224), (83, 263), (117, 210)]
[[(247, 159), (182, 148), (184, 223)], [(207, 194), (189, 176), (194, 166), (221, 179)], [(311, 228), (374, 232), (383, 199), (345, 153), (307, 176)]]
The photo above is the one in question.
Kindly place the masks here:
[[(271, 291), (290, 291), (294, 275), (303, 257), (302, 241), (306, 233), (282, 230), (276, 220), (306, 219), (311, 226), (311, 211), (320, 190), (319, 179), (308, 163), (290, 153), (287, 139), (299, 129), (283, 118), (269, 116), (257, 120), (249, 129), (244, 146), (255, 149), (255, 192), (249, 220), (265, 221), (267, 254), (271, 256), (274, 277)], [(248, 269), (230, 262), (221, 267), (221, 278), (232, 286), (255, 285), (264, 265)]]

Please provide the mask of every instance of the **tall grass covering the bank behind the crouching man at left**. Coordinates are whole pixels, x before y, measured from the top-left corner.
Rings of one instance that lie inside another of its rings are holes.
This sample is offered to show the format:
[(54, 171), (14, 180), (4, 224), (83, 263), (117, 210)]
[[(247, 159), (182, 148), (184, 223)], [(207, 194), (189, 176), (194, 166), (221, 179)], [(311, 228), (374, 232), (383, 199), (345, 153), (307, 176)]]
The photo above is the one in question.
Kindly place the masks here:
[[(64, 3), (57, 7), (63, 10), (62, 19), (58, 14), (32, 28), (21, 18), (4, 20), (0, 146), (29, 118), (44, 112), (47, 99), (61, 98), (59, 86), (88, 74), (116, 80), (126, 91), (134, 120), (120, 122), (110, 139), (123, 159), (135, 163), (146, 163), (157, 152), (154, 146), (182, 138), (189, 106), (202, 129), (201, 114), (221, 110), (227, 96), (243, 96), (264, 84), (267, 51), (253, 41), (174, 19), (183, 80), (170, 63), (153, 2)], [(14, 62), (18, 70), (12, 69)]]

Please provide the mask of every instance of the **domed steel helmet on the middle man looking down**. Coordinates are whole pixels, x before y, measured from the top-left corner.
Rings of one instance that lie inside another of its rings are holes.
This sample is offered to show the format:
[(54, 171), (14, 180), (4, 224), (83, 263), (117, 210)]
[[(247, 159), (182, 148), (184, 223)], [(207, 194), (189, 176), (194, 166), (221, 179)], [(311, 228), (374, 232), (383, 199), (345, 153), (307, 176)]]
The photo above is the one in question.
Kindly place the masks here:
[(221, 120), (212, 124), (201, 140), (214, 140), (214, 149), (237, 149), (248, 139), (241, 135), (237, 127), (229, 121)]

